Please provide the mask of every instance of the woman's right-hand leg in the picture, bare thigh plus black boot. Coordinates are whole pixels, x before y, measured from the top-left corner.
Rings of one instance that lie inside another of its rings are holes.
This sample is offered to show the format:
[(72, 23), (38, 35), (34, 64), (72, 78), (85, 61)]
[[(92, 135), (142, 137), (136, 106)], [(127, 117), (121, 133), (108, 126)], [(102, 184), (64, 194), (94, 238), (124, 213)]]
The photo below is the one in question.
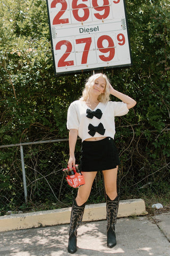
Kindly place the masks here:
[(116, 245), (115, 224), (118, 212), (119, 196), (117, 195), (117, 169), (105, 170), (106, 211), (107, 211), (107, 246)]

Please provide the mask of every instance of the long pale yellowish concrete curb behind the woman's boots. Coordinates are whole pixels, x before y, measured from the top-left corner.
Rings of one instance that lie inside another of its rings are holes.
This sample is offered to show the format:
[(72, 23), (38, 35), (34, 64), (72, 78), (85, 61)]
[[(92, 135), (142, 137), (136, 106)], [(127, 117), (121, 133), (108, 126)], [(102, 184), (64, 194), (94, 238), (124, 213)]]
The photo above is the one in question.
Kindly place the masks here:
[[(55, 226), (70, 223), (71, 207), (0, 217), (0, 231)], [(117, 218), (147, 214), (142, 199), (120, 201)], [(106, 219), (106, 203), (86, 205), (82, 221)]]

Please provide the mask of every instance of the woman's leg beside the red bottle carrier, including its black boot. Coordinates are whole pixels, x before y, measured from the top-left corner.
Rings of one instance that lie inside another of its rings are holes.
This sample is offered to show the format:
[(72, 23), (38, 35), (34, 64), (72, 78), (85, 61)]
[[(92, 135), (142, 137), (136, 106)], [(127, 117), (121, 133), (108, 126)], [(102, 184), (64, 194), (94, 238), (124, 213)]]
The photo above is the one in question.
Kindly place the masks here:
[(96, 177), (97, 172), (82, 172), (85, 184), (78, 189), (77, 198), (74, 199), (71, 211), (70, 230), (69, 230), (69, 244), (67, 251), (75, 253), (77, 251), (77, 229), (82, 221), (84, 207), (89, 198), (92, 183)]

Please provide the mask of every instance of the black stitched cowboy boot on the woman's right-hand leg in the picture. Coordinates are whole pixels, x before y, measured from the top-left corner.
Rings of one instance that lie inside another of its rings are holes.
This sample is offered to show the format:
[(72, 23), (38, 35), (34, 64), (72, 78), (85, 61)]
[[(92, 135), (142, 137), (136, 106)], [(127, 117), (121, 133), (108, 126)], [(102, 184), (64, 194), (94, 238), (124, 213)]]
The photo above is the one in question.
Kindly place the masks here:
[(119, 196), (111, 200), (106, 195), (106, 212), (107, 212), (107, 246), (112, 248), (116, 245), (115, 224), (118, 212)]

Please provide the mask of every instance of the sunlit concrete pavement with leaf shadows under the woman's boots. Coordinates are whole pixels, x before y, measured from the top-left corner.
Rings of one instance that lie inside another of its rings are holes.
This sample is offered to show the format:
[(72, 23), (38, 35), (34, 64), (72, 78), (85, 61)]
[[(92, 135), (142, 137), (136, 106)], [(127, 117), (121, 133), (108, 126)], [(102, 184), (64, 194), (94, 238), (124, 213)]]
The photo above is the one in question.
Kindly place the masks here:
[[(69, 225), (0, 233), (1, 256), (66, 256)], [(170, 212), (152, 218), (120, 218), (117, 245), (106, 245), (106, 220), (83, 222), (78, 229), (75, 256), (169, 256)]]

